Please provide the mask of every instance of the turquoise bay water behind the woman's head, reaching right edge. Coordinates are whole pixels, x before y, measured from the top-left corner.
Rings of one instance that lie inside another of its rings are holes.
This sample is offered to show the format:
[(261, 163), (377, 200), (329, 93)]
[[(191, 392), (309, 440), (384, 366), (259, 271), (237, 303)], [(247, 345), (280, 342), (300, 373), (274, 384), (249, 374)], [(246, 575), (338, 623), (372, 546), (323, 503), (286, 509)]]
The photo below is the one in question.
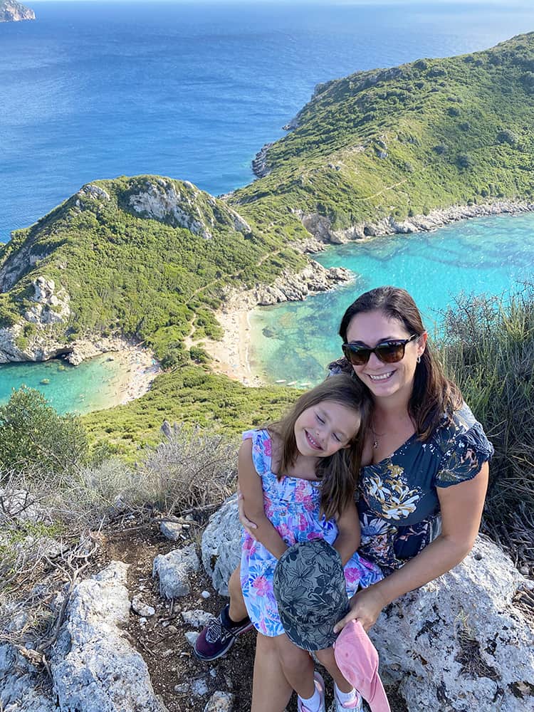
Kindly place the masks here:
[(268, 382), (298, 385), (323, 379), (339, 357), (337, 329), (345, 309), (367, 289), (407, 289), (429, 333), (459, 293), (501, 294), (533, 281), (534, 214), (461, 221), (432, 233), (395, 235), (329, 247), (316, 256), (325, 267), (343, 266), (355, 282), (304, 302), (256, 310), (251, 317), (253, 371)]

